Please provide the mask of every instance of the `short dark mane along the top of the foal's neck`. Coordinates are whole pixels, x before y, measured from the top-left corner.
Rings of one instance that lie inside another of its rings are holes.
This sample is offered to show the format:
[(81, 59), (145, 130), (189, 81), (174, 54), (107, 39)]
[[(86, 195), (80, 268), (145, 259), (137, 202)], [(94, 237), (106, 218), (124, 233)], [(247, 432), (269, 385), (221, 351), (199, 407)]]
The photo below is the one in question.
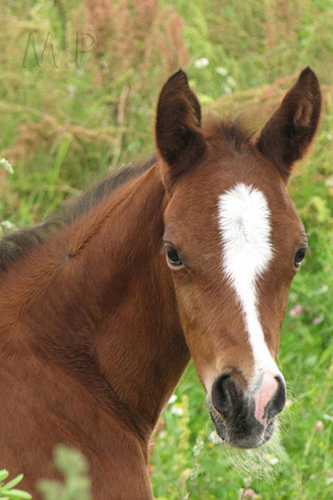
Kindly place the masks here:
[(37, 245), (42, 245), (56, 231), (87, 214), (91, 208), (95, 207), (106, 196), (110, 196), (119, 186), (146, 172), (155, 161), (156, 159), (151, 157), (142, 164), (122, 168), (116, 174), (109, 175), (93, 188), (82, 193), (75, 201), (66, 203), (62, 210), (60, 209), (58, 213), (47, 218), (44, 223), (15, 231), (2, 238), (0, 240), (0, 273), (8, 271), (11, 264), (30, 253)]

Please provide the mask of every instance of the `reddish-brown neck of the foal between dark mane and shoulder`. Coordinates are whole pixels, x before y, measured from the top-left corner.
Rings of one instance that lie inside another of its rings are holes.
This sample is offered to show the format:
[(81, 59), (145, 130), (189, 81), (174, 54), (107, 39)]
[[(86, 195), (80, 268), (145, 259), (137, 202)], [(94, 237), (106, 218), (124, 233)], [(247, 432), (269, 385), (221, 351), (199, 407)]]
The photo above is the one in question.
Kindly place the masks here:
[[(23, 260), (0, 297), (16, 304), (7, 325), (19, 318), (28, 350), (147, 438), (189, 360), (161, 253), (164, 204), (154, 166)], [(21, 327), (14, 338), (23, 346)]]

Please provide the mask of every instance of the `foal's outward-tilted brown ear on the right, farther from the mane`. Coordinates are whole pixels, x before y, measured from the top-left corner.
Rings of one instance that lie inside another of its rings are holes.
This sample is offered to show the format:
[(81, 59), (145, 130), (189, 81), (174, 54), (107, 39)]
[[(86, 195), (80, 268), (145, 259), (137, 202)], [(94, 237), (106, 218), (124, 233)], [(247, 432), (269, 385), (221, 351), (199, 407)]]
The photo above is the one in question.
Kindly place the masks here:
[(271, 160), (284, 182), (288, 182), (292, 163), (310, 145), (319, 122), (321, 91), (317, 76), (308, 67), (288, 91), (279, 109), (266, 123), (257, 141), (262, 155)]

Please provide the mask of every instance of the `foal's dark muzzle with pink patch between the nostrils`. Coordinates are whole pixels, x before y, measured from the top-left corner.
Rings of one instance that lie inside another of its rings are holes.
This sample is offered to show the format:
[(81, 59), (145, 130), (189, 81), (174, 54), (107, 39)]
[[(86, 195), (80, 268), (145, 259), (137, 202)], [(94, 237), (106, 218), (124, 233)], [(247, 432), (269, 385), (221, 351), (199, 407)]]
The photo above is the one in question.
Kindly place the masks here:
[(244, 390), (232, 374), (214, 380), (207, 405), (220, 438), (236, 448), (256, 448), (273, 435), (275, 417), (284, 408), (286, 386), (281, 374), (266, 372)]

